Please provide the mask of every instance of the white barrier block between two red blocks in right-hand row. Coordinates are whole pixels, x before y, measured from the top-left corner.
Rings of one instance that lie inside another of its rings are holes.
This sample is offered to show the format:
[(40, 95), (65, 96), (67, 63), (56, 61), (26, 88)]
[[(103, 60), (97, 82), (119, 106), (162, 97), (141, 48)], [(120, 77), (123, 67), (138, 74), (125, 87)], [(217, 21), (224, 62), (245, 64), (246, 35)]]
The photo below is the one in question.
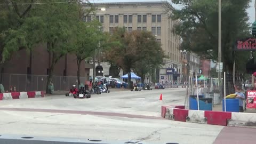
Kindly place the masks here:
[(186, 122), (207, 124), (207, 119), (204, 117), (204, 110), (189, 110)]

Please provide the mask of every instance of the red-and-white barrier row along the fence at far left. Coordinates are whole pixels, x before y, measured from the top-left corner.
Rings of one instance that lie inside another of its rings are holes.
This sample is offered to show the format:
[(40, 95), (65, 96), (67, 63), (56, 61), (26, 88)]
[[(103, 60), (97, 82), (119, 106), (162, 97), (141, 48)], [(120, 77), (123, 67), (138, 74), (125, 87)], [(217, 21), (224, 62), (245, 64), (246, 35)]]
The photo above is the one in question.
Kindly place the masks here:
[(39, 98), (39, 97), (44, 97), (43, 91), (0, 93), (0, 100), (28, 99), (28, 98)]

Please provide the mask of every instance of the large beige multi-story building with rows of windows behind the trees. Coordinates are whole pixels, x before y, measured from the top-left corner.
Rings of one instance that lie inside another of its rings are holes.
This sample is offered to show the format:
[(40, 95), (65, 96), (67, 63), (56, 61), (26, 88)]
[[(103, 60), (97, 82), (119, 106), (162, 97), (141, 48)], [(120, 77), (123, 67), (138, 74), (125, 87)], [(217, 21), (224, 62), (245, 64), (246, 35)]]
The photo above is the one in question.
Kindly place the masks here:
[[(157, 81), (171, 81), (177, 79), (181, 73), (180, 59), (180, 37), (172, 33), (175, 23), (170, 19), (166, 12), (168, 2), (127, 2), (127, 3), (96, 3), (99, 9), (102, 7), (105, 11), (98, 11), (96, 18), (102, 23), (102, 31), (112, 33), (115, 27), (125, 27), (127, 31), (147, 30), (155, 35), (157, 41), (161, 42), (162, 49), (170, 58), (165, 59), (165, 65), (162, 69), (156, 70)], [(90, 21), (92, 17), (87, 17)], [(103, 68), (103, 75), (109, 74), (108, 63), (98, 63)], [(99, 67), (99, 66), (98, 66)], [(173, 68), (177, 75), (166, 75), (166, 68)], [(92, 75), (93, 69), (90, 69)], [(97, 73), (97, 70), (96, 70)], [(123, 72), (119, 74), (122, 76)]]

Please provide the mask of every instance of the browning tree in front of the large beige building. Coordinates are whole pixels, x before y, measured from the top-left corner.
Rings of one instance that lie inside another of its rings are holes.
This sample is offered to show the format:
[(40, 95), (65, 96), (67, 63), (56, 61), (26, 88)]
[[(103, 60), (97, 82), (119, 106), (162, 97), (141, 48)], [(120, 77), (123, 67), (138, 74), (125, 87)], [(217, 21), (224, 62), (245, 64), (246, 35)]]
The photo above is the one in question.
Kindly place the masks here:
[[(131, 69), (137, 68), (140, 71), (138, 68), (140, 64), (150, 67), (153, 64), (143, 61), (144, 59), (148, 62), (155, 62), (158, 58), (156, 55), (164, 55), (161, 45), (147, 31), (135, 30), (127, 33), (125, 28), (116, 28), (111, 40), (119, 42), (119, 45), (112, 46), (106, 57), (121, 67), (125, 73), (128, 73), (129, 87), (131, 87)], [(159, 61), (163, 61), (163, 59), (160, 58)], [(141, 75), (145, 75), (144, 73), (143, 71)]]

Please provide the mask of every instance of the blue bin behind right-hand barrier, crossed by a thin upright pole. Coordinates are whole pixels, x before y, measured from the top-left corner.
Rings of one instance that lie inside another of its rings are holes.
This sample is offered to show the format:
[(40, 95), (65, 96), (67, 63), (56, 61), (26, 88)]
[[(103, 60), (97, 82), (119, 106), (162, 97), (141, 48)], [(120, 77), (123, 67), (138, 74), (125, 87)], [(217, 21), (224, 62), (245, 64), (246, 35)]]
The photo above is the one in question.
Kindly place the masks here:
[[(189, 109), (197, 110), (197, 96), (190, 95)], [(198, 95), (199, 96), (199, 95)], [(199, 110), (212, 110), (212, 98), (203, 98), (203, 95), (199, 97)]]

